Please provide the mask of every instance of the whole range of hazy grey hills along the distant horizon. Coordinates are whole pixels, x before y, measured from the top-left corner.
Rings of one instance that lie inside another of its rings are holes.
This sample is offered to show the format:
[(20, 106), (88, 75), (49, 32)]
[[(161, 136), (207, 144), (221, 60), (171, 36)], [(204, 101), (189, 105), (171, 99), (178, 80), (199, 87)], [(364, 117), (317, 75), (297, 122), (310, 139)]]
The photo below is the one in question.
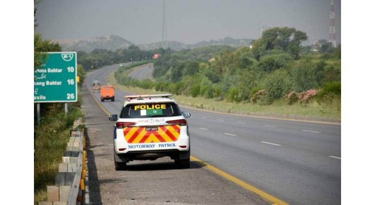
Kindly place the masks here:
[[(202, 41), (196, 44), (184, 44), (177, 41), (169, 41), (169, 48), (172, 50), (183, 50), (183, 49), (195, 49), (206, 46), (222, 46), (228, 45), (231, 47), (239, 46), (250, 46), (252, 39), (233, 39), (230, 37), (211, 40), (211, 41)], [(162, 47), (162, 42), (151, 43), (151, 44), (141, 44), (136, 45), (130, 41), (127, 41), (119, 36), (111, 35), (109, 37), (98, 37), (93, 39), (82, 39), (82, 40), (56, 40), (55, 42), (59, 43), (63, 51), (85, 51), (91, 52), (94, 49), (107, 49), (107, 50), (117, 50), (128, 48), (131, 45), (138, 46), (142, 50), (153, 50)]]

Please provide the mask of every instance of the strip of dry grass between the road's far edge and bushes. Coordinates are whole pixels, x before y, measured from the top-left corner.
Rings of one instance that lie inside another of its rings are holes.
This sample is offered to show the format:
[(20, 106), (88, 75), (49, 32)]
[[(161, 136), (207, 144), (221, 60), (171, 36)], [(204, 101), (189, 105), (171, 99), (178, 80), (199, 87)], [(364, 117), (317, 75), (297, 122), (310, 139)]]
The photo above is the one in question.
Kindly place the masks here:
[[(142, 89), (139, 87), (124, 86), (117, 82), (115, 74), (111, 73), (107, 81), (109, 84), (117, 88), (127, 90), (134, 93), (142, 94), (160, 94), (155, 89)], [(305, 115), (305, 116), (323, 116), (335, 117), (341, 119), (341, 98), (332, 100), (331, 104), (319, 105), (316, 101), (311, 102), (307, 106), (299, 104), (287, 105), (284, 99), (276, 100), (272, 105), (261, 106), (250, 103), (230, 103), (226, 100), (215, 101), (214, 99), (207, 99), (204, 97), (192, 97), (185, 95), (174, 95), (174, 99), (179, 105), (198, 108), (209, 111), (216, 111), (222, 113), (236, 113), (251, 115), (257, 113), (265, 114), (289, 114), (289, 115)]]

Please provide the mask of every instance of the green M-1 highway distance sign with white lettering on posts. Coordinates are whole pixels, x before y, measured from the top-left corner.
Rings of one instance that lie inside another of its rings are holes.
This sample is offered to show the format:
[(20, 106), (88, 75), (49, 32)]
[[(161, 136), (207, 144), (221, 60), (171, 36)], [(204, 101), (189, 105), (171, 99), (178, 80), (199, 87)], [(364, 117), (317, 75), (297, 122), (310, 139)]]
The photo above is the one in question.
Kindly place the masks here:
[(34, 103), (76, 102), (77, 53), (46, 54), (46, 62), (34, 70)]

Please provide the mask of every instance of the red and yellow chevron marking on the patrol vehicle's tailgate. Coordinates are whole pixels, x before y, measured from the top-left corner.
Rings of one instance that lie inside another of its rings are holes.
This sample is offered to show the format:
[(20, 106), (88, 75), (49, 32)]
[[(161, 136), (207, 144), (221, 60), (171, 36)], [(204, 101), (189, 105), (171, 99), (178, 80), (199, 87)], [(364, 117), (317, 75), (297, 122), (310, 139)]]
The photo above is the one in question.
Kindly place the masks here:
[(161, 125), (158, 131), (146, 131), (145, 127), (124, 127), (125, 140), (128, 143), (164, 143), (175, 142), (180, 135), (179, 125)]

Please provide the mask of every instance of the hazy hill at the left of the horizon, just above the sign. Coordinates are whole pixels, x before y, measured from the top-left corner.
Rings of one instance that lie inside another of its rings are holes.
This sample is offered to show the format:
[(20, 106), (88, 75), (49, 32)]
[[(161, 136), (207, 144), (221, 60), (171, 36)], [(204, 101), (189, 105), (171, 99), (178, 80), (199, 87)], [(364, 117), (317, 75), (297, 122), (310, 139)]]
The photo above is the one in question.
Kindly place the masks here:
[(134, 43), (127, 41), (119, 36), (111, 35), (109, 37), (98, 37), (92, 39), (82, 40), (56, 40), (59, 43), (63, 51), (85, 51), (91, 52), (96, 48), (117, 50), (128, 48)]

